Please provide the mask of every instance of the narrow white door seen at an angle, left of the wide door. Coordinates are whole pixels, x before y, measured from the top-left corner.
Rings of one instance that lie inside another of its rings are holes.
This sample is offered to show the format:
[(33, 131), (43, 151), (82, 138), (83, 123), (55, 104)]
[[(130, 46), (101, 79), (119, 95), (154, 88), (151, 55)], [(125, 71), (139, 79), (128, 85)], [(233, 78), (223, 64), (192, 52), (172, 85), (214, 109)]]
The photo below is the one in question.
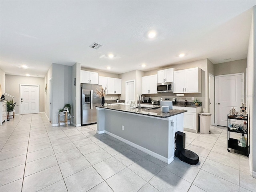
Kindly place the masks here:
[(214, 75), (209, 73), (209, 108), (211, 115), (211, 125), (214, 124)]

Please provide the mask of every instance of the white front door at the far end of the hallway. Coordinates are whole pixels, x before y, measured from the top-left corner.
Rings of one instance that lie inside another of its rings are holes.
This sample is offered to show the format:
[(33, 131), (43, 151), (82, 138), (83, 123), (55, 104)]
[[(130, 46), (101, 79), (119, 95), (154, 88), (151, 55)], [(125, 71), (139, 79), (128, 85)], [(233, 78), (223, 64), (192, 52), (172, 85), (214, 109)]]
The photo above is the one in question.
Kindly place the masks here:
[(20, 84), (20, 114), (39, 113), (39, 85)]

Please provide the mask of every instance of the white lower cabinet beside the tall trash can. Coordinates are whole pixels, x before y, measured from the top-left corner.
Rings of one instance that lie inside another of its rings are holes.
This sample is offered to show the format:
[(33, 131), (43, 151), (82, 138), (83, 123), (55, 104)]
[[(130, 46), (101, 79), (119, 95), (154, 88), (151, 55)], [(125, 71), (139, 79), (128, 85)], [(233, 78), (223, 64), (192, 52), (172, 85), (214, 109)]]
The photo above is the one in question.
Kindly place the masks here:
[(179, 107), (173, 106), (173, 109), (187, 110), (184, 113), (183, 126), (185, 131), (197, 133), (199, 131), (198, 114), (202, 112), (202, 107)]

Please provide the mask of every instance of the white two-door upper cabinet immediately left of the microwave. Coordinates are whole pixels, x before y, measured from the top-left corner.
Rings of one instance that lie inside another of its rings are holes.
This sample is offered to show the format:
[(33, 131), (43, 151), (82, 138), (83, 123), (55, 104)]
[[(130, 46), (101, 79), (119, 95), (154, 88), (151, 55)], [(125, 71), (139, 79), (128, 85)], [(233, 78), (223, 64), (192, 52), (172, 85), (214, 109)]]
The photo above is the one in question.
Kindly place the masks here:
[(157, 75), (149, 75), (141, 78), (142, 94), (157, 94)]

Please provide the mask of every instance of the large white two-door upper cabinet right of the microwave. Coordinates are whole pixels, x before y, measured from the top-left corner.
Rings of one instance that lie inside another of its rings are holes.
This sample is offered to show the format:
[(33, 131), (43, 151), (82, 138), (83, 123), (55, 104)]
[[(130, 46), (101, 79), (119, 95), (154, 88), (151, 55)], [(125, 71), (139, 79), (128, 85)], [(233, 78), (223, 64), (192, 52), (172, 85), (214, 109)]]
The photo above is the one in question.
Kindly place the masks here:
[(174, 71), (174, 93), (200, 93), (201, 92), (201, 69), (191, 68)]

